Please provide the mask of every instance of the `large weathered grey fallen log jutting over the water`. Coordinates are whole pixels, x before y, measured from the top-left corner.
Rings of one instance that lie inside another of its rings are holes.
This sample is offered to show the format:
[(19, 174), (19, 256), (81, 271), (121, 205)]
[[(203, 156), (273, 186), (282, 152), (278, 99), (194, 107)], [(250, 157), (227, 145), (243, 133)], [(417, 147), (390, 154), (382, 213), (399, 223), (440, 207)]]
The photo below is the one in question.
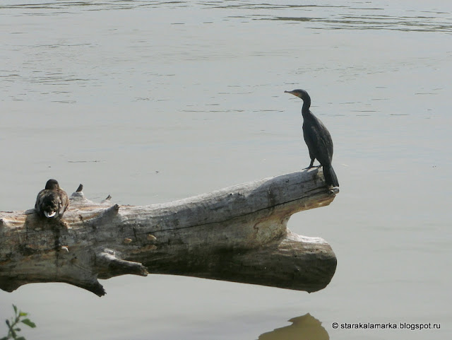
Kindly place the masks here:
[(335, 254), (286, 225), (337, 192), (313, 168), (151, 206), (95, 204), (74, 192), (60, 222), (32, 209), (3, 212), (0, 288), (56, 281), (101, 296), (97, 279), (149, 271), (318, 291), (333, 277)]

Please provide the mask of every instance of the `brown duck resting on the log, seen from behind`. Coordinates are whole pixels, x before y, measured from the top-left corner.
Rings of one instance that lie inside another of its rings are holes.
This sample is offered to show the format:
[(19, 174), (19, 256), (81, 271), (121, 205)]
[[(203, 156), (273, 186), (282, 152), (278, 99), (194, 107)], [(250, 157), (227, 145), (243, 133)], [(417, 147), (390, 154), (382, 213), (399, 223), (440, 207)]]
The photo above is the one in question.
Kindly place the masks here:
[(57, 180), (48, 180), (45, 189), (37, 194), (35, 209), (42, 217), (62, 218), (68, 206), (68, 194), (59, 187)]

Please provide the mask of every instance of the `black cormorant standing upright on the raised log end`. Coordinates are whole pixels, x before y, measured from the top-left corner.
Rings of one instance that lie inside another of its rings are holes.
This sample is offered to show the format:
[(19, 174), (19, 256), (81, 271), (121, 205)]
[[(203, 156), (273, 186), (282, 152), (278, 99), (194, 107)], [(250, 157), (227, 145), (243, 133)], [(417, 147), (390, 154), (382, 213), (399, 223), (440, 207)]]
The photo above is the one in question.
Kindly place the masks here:
[(311, 158), (311, 164), (309, 164), (308, 169), (312, 168), (315, 159), (319, 160), (320, 165), (323, 167), (323, 176), (326, 184), (339, 187), (338, 177), (331, 165), (333, 160), (333, 140), (325, 125), (309, 110), (311, 97), (305, 90), (285, 91), (285, 93), (291, 93), (303, 100), (303, 136)]

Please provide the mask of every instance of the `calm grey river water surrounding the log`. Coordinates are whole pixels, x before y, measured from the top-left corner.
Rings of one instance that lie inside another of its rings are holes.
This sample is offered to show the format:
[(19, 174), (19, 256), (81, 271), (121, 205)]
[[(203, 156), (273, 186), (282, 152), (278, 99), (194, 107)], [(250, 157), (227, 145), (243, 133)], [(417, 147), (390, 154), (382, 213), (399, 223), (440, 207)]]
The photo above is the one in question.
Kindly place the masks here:
[[(178, 276), (0, 291), (27, 339), (452, 336), (451, 1), (0, 0), (0, 210), (45, 181), (153, 204), (309, 165), (305, 88), (331, 131), (331, 206), (292, 216), (338, 269), (305, 293)], [(338, 322), (339, 328), (333, 328)], [(341, 329), (341, 324), (440, 329)], [(0, 326), (0, 336), (6, 327)]]

